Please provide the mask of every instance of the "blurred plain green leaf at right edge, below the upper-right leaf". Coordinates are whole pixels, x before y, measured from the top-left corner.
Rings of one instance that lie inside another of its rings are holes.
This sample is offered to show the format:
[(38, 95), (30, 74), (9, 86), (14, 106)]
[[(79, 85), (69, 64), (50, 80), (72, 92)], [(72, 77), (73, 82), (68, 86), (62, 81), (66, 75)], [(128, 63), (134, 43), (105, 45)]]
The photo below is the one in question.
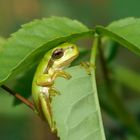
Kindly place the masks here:
[(140, 93), (140, 74), (123, 66), (115, 67), (115, 79)]

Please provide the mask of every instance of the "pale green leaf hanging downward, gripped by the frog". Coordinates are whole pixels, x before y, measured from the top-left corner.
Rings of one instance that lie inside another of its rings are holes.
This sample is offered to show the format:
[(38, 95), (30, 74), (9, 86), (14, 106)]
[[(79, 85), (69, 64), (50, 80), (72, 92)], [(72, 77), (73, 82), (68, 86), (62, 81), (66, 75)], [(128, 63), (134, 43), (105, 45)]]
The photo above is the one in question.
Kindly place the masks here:
[(61, 95), (52, 100), (53, 116), (61, 140), (105, 140), (96, 83), (80, 66), (66, 70), (70, 80), (55, 82)]

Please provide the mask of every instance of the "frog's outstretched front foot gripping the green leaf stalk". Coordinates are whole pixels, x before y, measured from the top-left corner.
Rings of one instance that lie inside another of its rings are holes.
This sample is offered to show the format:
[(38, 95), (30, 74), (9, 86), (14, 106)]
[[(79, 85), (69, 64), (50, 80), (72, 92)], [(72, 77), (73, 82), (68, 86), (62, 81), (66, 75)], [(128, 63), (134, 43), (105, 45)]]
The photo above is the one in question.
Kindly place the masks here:
[(81, 62), (80, 66), (87, 71), (88, 75), (91, 75), (91, 70), (96, 68), (95, 65), (90, 62)]

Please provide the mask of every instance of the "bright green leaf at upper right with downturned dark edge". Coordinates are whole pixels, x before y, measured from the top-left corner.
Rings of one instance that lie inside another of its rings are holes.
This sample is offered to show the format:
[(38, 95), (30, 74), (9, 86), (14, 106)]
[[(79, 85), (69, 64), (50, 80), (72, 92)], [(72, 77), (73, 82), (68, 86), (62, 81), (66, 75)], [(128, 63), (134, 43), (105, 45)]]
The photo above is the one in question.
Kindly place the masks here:
[(112, 22), (108, 27), (97, 26), (96, 31), (108, 36), (121, 45), (140, 55), (140, 19), (126, 18)]

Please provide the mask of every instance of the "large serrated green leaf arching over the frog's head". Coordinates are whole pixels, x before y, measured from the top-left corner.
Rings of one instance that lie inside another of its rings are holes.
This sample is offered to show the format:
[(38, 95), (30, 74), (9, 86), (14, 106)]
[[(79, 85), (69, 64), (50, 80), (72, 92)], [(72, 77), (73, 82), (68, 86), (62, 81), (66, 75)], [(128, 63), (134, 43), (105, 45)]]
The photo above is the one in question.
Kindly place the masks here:
[(0, 55), (0, 84), (30, 69), (45, 52), (62, 42), (71, 42), (91, 31), (76, 20), (51, 17), (22, 26), (5, 43)]

